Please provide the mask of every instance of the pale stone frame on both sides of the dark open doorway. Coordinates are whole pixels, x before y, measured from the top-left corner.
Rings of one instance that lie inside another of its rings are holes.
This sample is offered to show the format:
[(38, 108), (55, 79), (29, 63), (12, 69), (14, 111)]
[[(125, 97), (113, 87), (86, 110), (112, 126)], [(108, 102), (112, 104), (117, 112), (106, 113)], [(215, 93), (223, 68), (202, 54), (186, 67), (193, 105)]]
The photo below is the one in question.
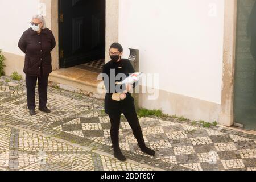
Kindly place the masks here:
[[(51, 29), (56, 39), (56, 47), (51, 52), (52, 69), (60, 69), (59, 67), (59, 0), (39, 0), (46, 7), (46, 24)], [(105, 35), (105, 56), (108, 57), (108, 49), (113, 42), (118, 42), (118, 16), (119, 3), (118, 0), (106, 0), (106, 35)]]

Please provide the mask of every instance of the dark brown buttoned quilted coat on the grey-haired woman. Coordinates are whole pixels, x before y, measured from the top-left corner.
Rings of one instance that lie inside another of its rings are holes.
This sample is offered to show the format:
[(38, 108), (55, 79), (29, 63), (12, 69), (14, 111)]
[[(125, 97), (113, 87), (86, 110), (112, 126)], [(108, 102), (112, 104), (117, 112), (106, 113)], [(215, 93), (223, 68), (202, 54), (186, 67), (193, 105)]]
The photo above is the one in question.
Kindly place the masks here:
[(51, 30), (45, 28), (38, 34), (29, 28), (23, 32), (18, 46), (26, 54), (24, 73), (29, 76), (40, 76), (52, 72), (51, 51), (56, 42)]

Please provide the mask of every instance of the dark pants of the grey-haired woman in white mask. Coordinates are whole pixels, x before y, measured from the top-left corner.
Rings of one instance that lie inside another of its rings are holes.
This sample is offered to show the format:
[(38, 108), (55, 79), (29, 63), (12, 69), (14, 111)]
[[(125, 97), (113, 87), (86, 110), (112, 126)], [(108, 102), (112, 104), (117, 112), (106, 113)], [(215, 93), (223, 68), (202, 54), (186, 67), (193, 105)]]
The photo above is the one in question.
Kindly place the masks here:
[(47, 89), (48, 89), (48, 78), (46, 76), (28, 76), (26, 75), (26, 86), (27, 86), (27, 107), (28, 109), (35, 109), (35, 88), (36, 81), (38, 80), (38, 94), (39, 94), (39, 107), (46, 107), (47, 104)]

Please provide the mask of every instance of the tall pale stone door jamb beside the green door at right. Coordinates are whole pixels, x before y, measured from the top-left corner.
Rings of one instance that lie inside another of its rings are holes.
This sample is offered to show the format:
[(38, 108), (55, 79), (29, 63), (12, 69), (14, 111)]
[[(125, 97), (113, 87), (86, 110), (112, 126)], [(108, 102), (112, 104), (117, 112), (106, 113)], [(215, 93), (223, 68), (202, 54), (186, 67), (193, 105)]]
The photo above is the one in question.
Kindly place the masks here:
[(234, 78), (236, 63), (237, 0), (225, 0), (224, 49), (221, 91), (221, 125), (234, 124)]

